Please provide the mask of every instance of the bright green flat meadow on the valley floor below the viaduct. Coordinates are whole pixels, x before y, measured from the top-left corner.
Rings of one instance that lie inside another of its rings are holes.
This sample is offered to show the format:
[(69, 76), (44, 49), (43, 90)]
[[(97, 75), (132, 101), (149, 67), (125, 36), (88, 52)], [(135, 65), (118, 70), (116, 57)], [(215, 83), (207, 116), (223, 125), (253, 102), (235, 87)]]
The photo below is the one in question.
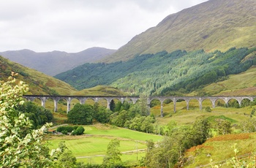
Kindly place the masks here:
[(65, 141), (67, 148), (78, 158), (78, 161), (91, 164), (101, 164), (110, 140), (120, 140), (120, 148), (123, 153), (121, 160), (136, 163), (137, 158), (145, 156), (146, 140), (157, 142), (162, 136), (146, 134), (143, 132), (122, 129), (104, 124), (84, 126), (85, 134), (82, 136), (50, 135), (47, 137), (50, 148), (58, 148), (61, 141)]

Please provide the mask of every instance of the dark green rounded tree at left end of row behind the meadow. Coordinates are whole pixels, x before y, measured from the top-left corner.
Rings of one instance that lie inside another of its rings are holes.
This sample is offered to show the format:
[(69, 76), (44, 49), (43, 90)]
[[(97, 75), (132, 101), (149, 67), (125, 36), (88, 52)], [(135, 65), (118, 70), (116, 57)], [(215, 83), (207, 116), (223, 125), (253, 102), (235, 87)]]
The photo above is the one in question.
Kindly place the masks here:
[(67, 114), (67, 121), (73, 124), (89, 125), (93, 120), (94, 109), (89, 104), (75, 104)]

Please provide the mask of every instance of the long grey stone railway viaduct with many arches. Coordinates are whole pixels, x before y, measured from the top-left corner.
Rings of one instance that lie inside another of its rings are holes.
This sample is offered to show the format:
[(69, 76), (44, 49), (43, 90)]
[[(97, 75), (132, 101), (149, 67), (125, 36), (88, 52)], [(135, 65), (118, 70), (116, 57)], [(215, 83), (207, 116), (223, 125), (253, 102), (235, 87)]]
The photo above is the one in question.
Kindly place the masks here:
[[(132, 103), (135, 104), (138, 99), (140, 99), (138, 96), (51, 96), (51, 95), (25, 95), (24, 98), (28, 99), (29, 101), (33, 102), (34, 99), (40, 99), (42, 107), (45, 107), (45, 102), (48, 99), (53, 99), (54, 102), (54, 111), (57, 111), (57, 104), (59, 100), (65, 99), (67, 101), (67, 112), (70, 110), (70, 104), (72, 102), (72, 99), (78, 99), (80, 104), (84, 104), (86, 102), (86, 99), (92, 99), (94, 102), (98, 102), (99, 99), (105, 99), (108, 102), (108, 109), (110, 109), (110, 102), (113, 99), (118, 99), (121, 103), (124, 102), (126, 99), (132, 100)], [(199, 96), (149, 96), (148, 97), (148, 106), (150, 105), (151, 101), (154, 99), (157, 99), (161, 102), (161, 117), (163, 116), (163, 104), (164, 101), (167, 99), (170, 99), (173, 101), (173, 111), (176, 112), (176, 102), (178, 100), (184, 100), (187, 103), (187, 110), (189, 110), (189, 102), (192, 99), (196, 99), (199, 103), (200, 110), (202, 110), (202, 103), (204, 100), (209, 99), (211, 101), (212, 107), (215, 107), (215, 103), (218, 99), (221, 99), (227, 104), (230, 99), (235, 99), (239, 106), (241, 106), (241, 103), (244, 99), (249, 99), (249, 101), (253, 101), (256, 98), (256, 96), (206, 96), (206, 97), (199, 97)]]

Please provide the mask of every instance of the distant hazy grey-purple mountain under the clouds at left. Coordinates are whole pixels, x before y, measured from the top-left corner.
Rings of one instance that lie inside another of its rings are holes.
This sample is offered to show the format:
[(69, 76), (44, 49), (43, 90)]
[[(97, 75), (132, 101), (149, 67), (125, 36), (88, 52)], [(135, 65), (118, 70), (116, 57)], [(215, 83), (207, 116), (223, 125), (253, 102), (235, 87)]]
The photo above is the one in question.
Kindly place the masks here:
[(53, 76), (86, 62), (98, 61), (115, 51), (102, 47), (91, 47), (79, 53), (61, 51), (36, 53), (32, 50), (10, 50), (1, 52), (0, 56)]

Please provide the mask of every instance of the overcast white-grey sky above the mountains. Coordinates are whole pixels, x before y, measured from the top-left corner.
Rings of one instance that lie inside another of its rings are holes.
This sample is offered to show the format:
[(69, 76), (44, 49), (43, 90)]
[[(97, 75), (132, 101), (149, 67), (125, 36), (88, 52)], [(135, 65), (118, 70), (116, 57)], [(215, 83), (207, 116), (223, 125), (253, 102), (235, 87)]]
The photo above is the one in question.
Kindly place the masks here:
[(0, 51), (118, 49), (167, 15), (207, 0), (0, 0)]

